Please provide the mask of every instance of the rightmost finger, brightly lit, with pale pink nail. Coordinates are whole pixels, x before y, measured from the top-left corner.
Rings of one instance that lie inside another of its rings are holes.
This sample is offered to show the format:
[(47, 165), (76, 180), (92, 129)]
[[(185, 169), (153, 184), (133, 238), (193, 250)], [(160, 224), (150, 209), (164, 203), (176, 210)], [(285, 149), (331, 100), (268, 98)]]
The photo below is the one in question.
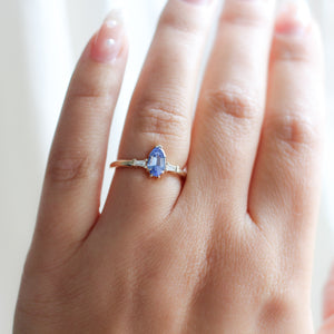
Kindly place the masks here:
[[(274, 233), (278, 226), (293, 229), (289, 237), (296, 248), (293, 235), (307, 230), (313, 237), (317, 220), (324, 116), (322, 67), (321, 37), (307, 8), (286, 8), (277, 19), (273, 42), (267, 110), (249, 191), (249, 213), (257, 224), (273, 227)], [(297, 239), (305, 243), (299, 234)]]

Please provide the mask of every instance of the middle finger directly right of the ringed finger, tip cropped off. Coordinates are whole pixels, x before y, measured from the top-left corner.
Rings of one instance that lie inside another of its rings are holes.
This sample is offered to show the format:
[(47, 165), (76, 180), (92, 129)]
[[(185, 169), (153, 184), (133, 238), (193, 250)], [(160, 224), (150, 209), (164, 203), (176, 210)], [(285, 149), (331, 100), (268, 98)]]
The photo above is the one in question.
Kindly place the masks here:
[(204, 79), (188, 178), (212, 189), (219, 206), (226, 199), (246, 209), (263, 118), (274, 3), (225, 2)]

